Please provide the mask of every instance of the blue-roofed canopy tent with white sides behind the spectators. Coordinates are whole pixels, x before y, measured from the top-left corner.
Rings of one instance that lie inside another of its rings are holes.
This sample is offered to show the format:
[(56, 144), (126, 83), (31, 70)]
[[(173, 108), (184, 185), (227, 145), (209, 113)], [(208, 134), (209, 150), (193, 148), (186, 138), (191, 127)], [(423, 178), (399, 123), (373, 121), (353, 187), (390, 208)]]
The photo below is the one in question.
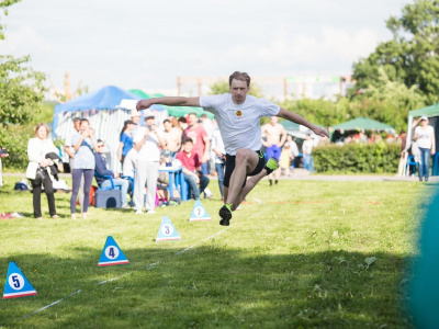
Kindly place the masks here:
[[(120, 106), (122, 100), (133, 100), (135, 103), (140, 98), (115, 86), (106, 86), (98, 91), (56, 105), (52, 129), (53, 138), (65, 140), (70, 136), (74, 117), (88, 118), (90, 126), (95, 131), (95, 137), (101, 138), (106, 144), (108, 152), (111, 156), (109, 161), (111, 168), (119, 169), (116, 152), (120, 132), (124, 121), (130, 120), (131, 111), (134, 110)], [(154, 105), (151, 110), (162, 111), (162, 107)], [(142, 124), (143, 122), (140, 120)]]

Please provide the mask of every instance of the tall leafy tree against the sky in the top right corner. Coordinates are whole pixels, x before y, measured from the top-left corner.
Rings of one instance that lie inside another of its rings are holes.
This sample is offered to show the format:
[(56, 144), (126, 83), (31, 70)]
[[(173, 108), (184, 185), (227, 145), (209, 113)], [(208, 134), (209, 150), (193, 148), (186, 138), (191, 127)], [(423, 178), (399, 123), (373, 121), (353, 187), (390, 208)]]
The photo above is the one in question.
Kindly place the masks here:
[(379, 84), (381, 68), (391, 81), (418, 87), (427, 104), (439, 102), (439, 0), (415, 0), (386, 25), (393, 39), (353, 64), (356, 90)]

